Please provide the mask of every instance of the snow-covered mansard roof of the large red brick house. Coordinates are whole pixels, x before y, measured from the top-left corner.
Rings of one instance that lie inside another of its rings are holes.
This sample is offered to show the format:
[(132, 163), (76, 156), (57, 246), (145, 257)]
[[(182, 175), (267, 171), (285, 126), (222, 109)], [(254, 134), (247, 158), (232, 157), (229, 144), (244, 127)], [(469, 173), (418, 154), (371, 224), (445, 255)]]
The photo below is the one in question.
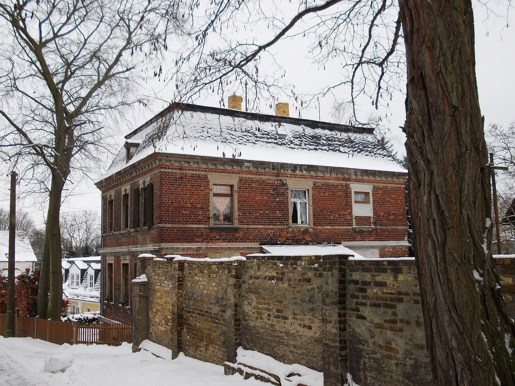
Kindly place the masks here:
[(406, 172), (371, 128), (194, 104), (171, 104), (126, 139), (140, 146), (128, 162), (122, 147), (103, 178), (159, 152)]

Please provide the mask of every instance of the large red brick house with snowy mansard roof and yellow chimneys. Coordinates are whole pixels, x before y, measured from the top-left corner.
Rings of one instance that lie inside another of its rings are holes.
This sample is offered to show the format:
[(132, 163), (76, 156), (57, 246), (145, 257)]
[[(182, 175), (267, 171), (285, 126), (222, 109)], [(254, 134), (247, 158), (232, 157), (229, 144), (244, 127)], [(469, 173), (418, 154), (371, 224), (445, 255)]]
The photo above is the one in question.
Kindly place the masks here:
[(170, 104), (125, 136), (96, 183), (107, 320), (132, 322), (130, 281), (142, 254), (344, 244), (367, 258), (407, 256), (407, 171), (372, 128), (289, 117), (287, 103), (277, 115), (244, 112), (241, 102)]

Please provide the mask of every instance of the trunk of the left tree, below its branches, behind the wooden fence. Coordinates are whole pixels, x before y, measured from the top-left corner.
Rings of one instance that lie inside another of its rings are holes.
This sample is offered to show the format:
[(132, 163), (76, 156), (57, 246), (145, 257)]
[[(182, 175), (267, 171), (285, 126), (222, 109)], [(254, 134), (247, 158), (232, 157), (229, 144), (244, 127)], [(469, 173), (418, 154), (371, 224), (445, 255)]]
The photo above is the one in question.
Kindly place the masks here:
[(61, 176), (52, 176), (48, 216), (46, 219), (45, 242), (48, 240), (50, 267), (50, 295), (48, 298), (47, 318), (60, 321), (63, 297), (63, 282), (61, 268), (61, 227), (59, 215), (61, 211), (61, 195), (64, 183)]

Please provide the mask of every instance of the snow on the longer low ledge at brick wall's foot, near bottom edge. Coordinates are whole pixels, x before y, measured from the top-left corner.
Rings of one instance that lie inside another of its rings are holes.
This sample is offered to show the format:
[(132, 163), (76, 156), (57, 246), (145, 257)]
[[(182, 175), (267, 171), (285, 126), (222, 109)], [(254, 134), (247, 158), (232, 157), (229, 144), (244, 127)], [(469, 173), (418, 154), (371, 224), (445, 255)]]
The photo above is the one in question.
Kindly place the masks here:
[[(298, 384), (306, 386), (323, 385), (323, 373), (321, 372), (300, 364), (282, 363), (268, 355), (246, 350), (241, 346), (236, 350), (236, 362), (277, 375), (281, 378), (281, 384), (285, 386), (297, 386)], [(288, 377), (290, 374), (300, 374), (300, 376)]]

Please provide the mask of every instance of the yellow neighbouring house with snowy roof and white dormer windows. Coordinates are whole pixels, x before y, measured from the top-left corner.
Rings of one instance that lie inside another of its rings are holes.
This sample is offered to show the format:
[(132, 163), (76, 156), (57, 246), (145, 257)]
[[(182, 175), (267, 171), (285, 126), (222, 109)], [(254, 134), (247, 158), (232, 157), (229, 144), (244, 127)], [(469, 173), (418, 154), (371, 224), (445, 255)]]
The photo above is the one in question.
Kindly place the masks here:
[(61, 265), (68, 312), (100, 311), (100, 256), (62, 259)]

